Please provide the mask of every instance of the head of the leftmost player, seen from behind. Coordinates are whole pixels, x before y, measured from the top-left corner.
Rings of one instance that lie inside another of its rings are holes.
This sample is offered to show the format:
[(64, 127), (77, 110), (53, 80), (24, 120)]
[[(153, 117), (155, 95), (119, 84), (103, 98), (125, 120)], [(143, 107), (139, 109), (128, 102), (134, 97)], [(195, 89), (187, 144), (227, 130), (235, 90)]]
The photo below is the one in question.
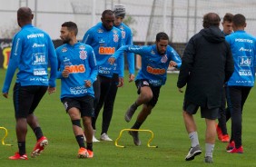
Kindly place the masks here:
[(34, 15), (29, 7), (20, 7), (17, 11), (17, 22), (20, 27), (32, 24)]

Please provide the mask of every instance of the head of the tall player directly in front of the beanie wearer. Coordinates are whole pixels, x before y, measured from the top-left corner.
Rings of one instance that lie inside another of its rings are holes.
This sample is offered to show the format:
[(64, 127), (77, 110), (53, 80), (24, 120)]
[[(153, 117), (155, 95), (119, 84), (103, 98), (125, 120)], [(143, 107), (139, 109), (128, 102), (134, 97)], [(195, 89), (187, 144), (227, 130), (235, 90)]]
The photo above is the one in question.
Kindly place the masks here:
[(112, 10), (104, 10), (102, 14), (103, 27), (110, 31), (113, 28), (114, 14)]

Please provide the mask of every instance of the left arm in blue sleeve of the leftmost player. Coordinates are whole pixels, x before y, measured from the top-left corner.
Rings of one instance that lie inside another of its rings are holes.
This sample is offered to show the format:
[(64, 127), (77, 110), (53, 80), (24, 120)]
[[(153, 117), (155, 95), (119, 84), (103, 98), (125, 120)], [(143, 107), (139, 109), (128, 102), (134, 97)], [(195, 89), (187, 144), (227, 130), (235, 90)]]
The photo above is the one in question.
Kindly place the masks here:
[(9, 64), (5, 74), (5, 83), (2, 89), (2, 93), (5, 96), (5, 98), (8, 97), (8, 92), (9, 92), (13, 77), (15, 75), (15, 70), (17, 69), (20, 62), (21, 53), (22, 53), (22, 44), (23, 44), (22, 36), (19, 34), (16, 34), (13, 39)]

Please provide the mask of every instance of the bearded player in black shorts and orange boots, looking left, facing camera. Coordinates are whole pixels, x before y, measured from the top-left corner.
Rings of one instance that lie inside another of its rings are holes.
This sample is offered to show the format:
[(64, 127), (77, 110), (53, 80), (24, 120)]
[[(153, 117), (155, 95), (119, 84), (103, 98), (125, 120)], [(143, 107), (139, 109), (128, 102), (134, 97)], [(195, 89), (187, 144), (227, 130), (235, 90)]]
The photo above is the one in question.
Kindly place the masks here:
[[(56, 49), (61, 79), (61, 101), (73, 124), (76, 142), (79, 145), (79, 158), (93, 158), (93, 127), (91, 118), (94, 116), (93, 83), (98, 68), (93, 48), (77, 41), (77, 25), (65, 22), (61, 28), (63, 45)], [(84, 131), (81, 126), (81, 118)], [(85, 132), (85, 133), (84, 133)], [(84, 144), (84, 134), (87, 147)]]

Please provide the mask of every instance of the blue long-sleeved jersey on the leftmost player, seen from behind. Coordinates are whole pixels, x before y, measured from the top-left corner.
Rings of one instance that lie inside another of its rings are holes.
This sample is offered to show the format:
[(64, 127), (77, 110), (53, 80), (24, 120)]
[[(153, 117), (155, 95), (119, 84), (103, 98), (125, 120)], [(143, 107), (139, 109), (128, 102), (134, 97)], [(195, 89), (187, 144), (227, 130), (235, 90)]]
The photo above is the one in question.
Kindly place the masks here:
[[(51, 75), (48, 79), (49, 63)], [(3, 93), (8, 93), (17, 68), (16, 83), (21, 83), (22, 86), (56, 86), (57, 58), (54, 44), (43, 30), (29, 24), (15, 34)]]

